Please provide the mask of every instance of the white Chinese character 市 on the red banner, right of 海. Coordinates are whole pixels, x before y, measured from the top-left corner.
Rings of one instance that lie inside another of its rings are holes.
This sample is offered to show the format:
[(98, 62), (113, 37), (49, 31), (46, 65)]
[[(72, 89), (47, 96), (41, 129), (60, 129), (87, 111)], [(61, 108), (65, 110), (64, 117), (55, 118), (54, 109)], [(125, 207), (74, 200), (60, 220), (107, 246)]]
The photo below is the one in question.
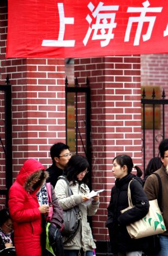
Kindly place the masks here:
[(130, 30), (132, 28), (133, 22), (138, 22), (136, 36), (134, 39), (134, 45), (139, 45), (143, 22), (149, 22), (147, 33), (145, 35), (142, 35), (143, 41), (147, 41), (151, 38), (152, 29), (156, 20), (156, 16), (145, 16), (145, 15), (147, 12), (161, 12), (162, 7), (148, 8), (148, 6), (150, 6), (150, 3), (148, 1), (143, 2), (142, 4), (143, 4), (143, 7), (128, 7), (127, 12), (141, 12), (141, 15), (139, 17), (129, 17), (124, 42), (129, 41)]

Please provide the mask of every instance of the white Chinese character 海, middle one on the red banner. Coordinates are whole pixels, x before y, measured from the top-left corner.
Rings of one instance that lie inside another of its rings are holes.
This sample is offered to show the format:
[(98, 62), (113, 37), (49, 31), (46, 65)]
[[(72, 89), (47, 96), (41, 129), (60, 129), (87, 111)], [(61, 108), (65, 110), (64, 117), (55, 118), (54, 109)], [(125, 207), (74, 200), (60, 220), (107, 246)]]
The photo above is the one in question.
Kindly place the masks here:
[[(94, 34), (92, 36), (92, 40), (96, 39), (104, 39), (101, 41), (101, 47), (105, 47), (109, 44), (110, 39), (114, 38), (114, 34), (112, 33), (113, 28), (116, 28), (116, 23), (114, 23), (115, 13), (103, 13), (104, 11), (118, 11), (119, 6), (103, 6), (104, 3), (100, 2), (97, 8), (94, 11), (95, 6), (90, 2), (88, 4), (88, 8), (92, 12), (92, 16), (96, 17), (96, 24), (91, 25), (92, 18), (90, 15), (87, 15), (86, 20), (90, 24), (87, 34), (83, 39), (83, 44), (86, 46), (88, 39), (90, 38), (92, 30), (94, 30)], [(99, 13), (99, 12), (102, 13)], [(110, 22), (108, 23), (108, 19)], [(108, 32), (106, 33), (106, 31)], [(100, 31), (100, 33), (98, 33)]]

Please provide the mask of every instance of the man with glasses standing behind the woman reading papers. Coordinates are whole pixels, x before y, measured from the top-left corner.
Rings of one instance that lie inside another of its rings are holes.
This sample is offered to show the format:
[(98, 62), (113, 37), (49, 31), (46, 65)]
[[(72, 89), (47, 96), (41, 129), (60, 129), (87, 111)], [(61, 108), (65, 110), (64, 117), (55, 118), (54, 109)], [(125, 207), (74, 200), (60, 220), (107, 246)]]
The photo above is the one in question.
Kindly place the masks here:
[(50, 148), (50, 156), (52, 158), (53, 164), (46, 170), (49, 172), (49, 178), (47, 182), (50, 182), (53, 185), (53, 188), (55, 188), (58, 177), (63, 175), (63, 170), (71, 158), (72, 153), (69, 151), (68, 145), (59, 142)]

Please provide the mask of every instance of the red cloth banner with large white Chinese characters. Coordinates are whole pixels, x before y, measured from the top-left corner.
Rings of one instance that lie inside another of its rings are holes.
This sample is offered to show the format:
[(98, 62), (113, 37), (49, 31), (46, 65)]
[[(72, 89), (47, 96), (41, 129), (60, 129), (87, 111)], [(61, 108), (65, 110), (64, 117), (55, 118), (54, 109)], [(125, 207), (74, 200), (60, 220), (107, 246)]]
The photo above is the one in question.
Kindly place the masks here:
[(166, 53), (166, 0), (8, 0), (7, 58)]

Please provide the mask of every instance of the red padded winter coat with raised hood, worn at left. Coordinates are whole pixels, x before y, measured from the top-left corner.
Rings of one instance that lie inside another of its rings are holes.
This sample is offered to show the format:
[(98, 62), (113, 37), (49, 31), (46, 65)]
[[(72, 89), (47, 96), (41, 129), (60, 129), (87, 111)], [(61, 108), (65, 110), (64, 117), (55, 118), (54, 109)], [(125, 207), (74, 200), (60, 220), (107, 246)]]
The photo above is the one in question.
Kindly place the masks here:
[(41, 213), (36, 192), (24, 188), (27, 178), (39, 170), (45, 170), (36, 159), (28, 159), (18, 173), (9, 191), (9, 209), (13, 220), (14, 242), (17, 256), (41, 256)]

